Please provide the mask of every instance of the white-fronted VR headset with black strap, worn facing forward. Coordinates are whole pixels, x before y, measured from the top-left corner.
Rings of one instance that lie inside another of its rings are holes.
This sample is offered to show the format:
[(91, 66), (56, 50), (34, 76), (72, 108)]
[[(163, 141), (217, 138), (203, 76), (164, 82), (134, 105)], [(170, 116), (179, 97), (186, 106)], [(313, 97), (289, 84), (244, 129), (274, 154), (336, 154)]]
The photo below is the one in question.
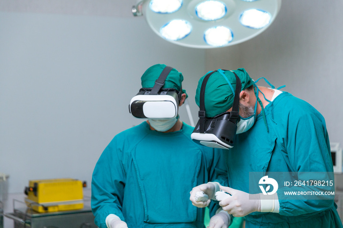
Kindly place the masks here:
[(162, 89), (172, 67), (166, 66), (152, 88), (142, 88), (129, 104), (129, 113), (136, 118), (169, 119), (177, 116), (182, 88)]

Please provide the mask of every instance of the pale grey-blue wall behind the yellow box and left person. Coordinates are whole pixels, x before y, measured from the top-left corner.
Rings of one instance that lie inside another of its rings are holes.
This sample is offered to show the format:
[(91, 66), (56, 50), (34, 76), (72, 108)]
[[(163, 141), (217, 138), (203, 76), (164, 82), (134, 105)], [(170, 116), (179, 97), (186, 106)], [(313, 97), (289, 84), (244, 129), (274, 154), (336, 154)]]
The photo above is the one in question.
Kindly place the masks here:
[[(35, 179), (90, 185), (105, 146), (141, 122), (128, 103), (156, 63), (183, 72), (196, 118), (204, 54), (159, 38), (143, 17), (0, 12), (0, 172), (9, 192)], [(189, 123), (185, 108), (180, 116)]]

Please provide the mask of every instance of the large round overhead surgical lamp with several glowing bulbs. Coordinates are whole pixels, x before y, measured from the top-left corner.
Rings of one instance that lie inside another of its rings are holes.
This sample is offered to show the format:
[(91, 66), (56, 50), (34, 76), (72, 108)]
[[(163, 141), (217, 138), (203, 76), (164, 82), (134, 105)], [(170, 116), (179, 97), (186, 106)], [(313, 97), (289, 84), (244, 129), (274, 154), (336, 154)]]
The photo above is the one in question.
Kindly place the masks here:
[(134, 16), (173, 44), (214, 48), (245, 42), (275, 20), (281, 0), (138, 0)]

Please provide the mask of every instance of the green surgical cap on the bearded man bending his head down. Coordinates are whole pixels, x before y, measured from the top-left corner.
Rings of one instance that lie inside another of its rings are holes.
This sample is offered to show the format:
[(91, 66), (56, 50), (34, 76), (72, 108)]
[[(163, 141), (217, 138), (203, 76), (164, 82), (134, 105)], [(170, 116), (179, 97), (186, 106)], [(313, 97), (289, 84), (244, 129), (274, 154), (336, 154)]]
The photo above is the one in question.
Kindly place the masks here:
[[(245, 71), (244, 68), (239, 68), (233, 70), (240, 78), (242, 82), (242, 91), (246, 88), (253, 85), (253, 81), (250, 78), (249, 74)], [(229, 80), (232, 85), (232, 88), (236, 89), (236, 77), (235, 74), (230, 70), (223, 70), (224, 75)], [(210, 73), (210, 72), (209, 72)], [(206, 73), (203, 77), (200, 78), (199, 83), (196, 88), (196, 104), (200, 106), (200, 88), (202, 81), (204, 80)], [(215, 115), (226, 112), (232, 107), (233, 104), (234, 91), (227, 83), (227, 80), (224, 76), (216, 71), (208, 79), (206, 88), (205, 88), (205, 112), (206, 117), (213, 117)]]

